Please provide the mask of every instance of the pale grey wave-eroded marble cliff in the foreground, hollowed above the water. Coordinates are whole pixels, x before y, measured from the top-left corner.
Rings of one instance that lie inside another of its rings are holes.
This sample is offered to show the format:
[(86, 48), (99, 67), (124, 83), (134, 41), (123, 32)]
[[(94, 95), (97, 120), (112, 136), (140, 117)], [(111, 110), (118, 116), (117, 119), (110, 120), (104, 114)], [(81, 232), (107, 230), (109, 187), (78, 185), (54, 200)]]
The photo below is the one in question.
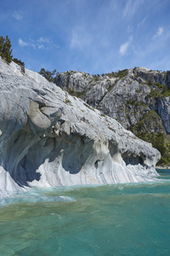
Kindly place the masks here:
[[(0, 84), (0, 196), (30, 186), (128, 183), (157, 175), (160, 154), (150, 143), (41, 75), (20, 73), (14, 62), (0, 59)], [(77, 86), (82, 91), (84, 83)]]

